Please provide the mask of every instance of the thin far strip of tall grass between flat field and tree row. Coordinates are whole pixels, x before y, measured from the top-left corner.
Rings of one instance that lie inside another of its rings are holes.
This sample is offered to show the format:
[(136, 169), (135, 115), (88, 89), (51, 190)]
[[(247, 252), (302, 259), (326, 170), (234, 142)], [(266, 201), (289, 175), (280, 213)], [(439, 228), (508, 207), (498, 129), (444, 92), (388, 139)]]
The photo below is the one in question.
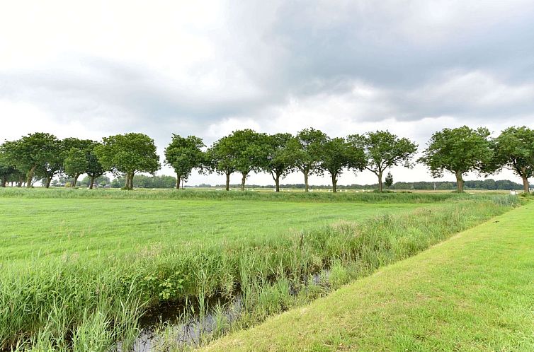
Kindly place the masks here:
[(0, 188), (0, 197), (16, 198), (89, 198), (89, 199), (222, 199), (257, 201), (316, 201), (316, 202), (363, 202), (363, 203), (430, 203), (452, 199), (472, 198), (470, 194), (458, 193), (373, 193), (373, 192), (239, 192), (192, 189), (25, 189)]

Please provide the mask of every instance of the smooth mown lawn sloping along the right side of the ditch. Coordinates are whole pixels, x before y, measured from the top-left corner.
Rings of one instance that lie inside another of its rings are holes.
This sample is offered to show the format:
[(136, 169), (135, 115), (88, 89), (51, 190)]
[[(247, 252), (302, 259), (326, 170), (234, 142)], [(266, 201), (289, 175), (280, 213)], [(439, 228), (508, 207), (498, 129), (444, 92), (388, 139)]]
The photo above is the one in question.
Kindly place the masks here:
[(210, 351), (534, 351), (534, 204)]

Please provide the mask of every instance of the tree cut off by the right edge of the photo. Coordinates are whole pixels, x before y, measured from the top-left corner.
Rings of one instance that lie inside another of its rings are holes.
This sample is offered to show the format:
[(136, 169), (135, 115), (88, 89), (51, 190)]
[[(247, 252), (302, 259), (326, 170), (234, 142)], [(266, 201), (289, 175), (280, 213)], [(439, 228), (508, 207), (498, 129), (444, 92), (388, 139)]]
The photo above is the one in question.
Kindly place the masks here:
[(494, 168), (507, 168), (523, 180), (523, 192), (530, 191), (528, 178), (534, 176), (534, 130), (509, 127), (494, 140)]

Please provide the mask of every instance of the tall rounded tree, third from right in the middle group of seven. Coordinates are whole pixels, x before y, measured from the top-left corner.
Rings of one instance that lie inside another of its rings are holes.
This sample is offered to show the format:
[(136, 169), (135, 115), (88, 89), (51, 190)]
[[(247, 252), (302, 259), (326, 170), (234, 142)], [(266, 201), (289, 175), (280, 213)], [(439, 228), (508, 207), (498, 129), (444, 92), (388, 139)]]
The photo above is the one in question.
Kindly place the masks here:
[(308, 192), (308, 177), (322, 174), (319, 168), (322, 160), (326, 134), (318, 129), (302, 129), (295, 139), (288, 142), (288, 153), (292, 156), (292, 164), (304, 175), (305, 192)]

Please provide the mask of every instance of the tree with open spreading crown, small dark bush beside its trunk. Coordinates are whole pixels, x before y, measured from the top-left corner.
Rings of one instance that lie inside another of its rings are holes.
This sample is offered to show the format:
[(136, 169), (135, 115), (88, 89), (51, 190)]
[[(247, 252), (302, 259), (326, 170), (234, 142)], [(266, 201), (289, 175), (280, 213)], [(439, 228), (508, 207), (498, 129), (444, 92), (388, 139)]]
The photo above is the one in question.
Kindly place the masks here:
[(367, 165), (365, 168), (378, 177), (378, 188), (382, 192), (382, 175), (387, 168), (403, 165), (411, 168), (411, 158), (417, 151), (417, 144), (407, 138), (399, 138), (390, 131), (375, 131), (367, 134), (353, 134), (348, 141), (363, 148)]

